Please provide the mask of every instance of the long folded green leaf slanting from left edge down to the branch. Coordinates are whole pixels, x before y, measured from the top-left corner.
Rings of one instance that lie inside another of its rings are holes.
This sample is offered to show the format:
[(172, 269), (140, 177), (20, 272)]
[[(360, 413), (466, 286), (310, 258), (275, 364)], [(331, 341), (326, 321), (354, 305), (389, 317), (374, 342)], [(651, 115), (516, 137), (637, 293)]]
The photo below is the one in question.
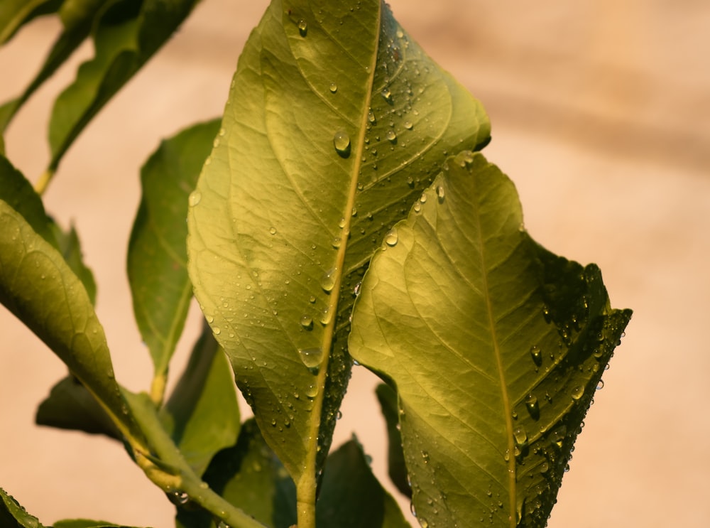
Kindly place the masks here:
[(62, 255), (4, 200), (0, 302), (65, 362), (122, 433), (141, 440), (114, 379), (104, 329), (86, 289)]

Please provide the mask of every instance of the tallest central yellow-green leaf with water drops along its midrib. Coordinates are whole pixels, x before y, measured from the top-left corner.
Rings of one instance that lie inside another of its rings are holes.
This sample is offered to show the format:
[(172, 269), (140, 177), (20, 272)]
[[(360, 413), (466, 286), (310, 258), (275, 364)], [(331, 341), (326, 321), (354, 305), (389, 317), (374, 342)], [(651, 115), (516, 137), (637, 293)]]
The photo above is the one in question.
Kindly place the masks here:
[(354, 291), (481, 105), (379, 0), (278, 1), (239, 59), (190, 196), (188, 269), (264, 438), (315, 502)]

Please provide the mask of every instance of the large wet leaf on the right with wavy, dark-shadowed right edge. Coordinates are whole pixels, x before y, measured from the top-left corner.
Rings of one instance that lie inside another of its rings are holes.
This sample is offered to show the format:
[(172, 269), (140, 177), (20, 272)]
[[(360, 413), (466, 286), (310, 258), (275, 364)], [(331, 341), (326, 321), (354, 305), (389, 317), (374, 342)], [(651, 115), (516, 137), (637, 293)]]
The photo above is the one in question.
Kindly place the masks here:
[(422, 525), (542, 527), (630, 318), (599, 269), (530, 239), (513, 183), (461, 153), (373, 257), (353, 357), (396, 385)]

